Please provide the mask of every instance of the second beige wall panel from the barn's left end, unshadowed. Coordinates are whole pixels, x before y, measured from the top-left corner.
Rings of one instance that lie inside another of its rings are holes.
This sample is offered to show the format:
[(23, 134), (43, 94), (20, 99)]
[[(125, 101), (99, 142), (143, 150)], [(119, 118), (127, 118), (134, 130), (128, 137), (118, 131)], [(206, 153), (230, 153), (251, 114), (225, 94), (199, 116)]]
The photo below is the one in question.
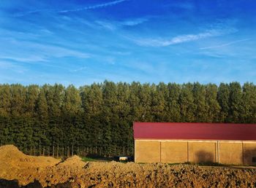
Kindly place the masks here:
[(161, 162), (187, 162), (187, 141), (162, 141)]

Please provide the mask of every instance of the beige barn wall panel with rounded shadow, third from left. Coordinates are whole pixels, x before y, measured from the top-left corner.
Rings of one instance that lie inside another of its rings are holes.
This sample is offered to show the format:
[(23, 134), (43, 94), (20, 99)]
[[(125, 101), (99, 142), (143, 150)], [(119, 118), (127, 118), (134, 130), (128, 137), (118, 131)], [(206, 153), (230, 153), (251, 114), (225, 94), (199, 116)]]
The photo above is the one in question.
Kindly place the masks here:
[(217, 162), (216, 142), (189, 142), (189, 162)]

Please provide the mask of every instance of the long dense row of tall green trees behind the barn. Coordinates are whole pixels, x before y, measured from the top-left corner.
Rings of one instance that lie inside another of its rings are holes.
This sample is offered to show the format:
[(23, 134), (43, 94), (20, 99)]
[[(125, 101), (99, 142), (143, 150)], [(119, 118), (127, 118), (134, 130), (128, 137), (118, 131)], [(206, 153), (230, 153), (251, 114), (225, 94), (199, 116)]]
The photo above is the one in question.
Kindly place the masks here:
[(256, 85), (0, 85), (0, 144), (26, 154), (133, 154), (132, 122), (256, 122)]

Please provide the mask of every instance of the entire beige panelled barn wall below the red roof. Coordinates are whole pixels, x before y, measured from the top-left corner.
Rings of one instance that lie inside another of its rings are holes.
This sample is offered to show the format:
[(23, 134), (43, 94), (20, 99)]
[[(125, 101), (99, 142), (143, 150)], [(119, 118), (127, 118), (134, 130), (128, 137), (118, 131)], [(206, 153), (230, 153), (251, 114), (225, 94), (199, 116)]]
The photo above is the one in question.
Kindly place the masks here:
[(220, 162), (252, 165), (256, 141), (135, 140), (135, 162)]

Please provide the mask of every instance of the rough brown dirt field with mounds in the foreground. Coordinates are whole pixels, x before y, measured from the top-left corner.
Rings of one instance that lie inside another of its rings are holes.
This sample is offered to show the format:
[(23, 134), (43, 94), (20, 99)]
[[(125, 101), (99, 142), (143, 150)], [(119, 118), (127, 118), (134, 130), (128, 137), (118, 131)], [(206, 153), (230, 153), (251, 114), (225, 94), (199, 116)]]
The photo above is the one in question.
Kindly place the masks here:
[(0, 187), (256, 187), (255, 168), (83, 162), (0, 147)]

